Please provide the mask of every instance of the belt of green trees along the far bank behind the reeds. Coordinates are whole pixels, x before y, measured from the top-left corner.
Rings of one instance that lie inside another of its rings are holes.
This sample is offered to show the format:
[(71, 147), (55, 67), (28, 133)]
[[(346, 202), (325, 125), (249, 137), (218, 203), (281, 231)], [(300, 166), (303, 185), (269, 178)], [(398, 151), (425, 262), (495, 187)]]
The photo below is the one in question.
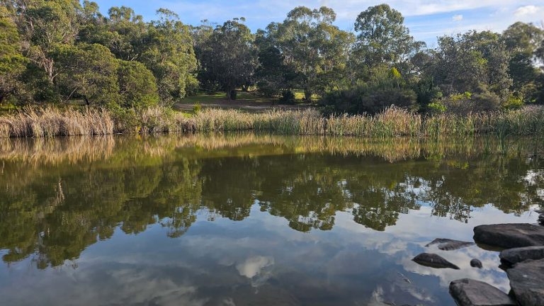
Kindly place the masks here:
[[(544, 103), (544, 30), (514, 23), (415, 40), (387, 4), (361, 12), (353, 32), (331, 8), (303, 6), (251, 33), (244, 18), (181, 22), (165, 8), (145, 22), (125, 6), (108, 16), (91, 1), (0, 0), (0, 103), (81, 101), (141, 110), (199, 89), (239, 89), (292, 103), (295, 90), (326, 113), (475, 113)], [(317, 102), (317, 101), (316, 101)]]

